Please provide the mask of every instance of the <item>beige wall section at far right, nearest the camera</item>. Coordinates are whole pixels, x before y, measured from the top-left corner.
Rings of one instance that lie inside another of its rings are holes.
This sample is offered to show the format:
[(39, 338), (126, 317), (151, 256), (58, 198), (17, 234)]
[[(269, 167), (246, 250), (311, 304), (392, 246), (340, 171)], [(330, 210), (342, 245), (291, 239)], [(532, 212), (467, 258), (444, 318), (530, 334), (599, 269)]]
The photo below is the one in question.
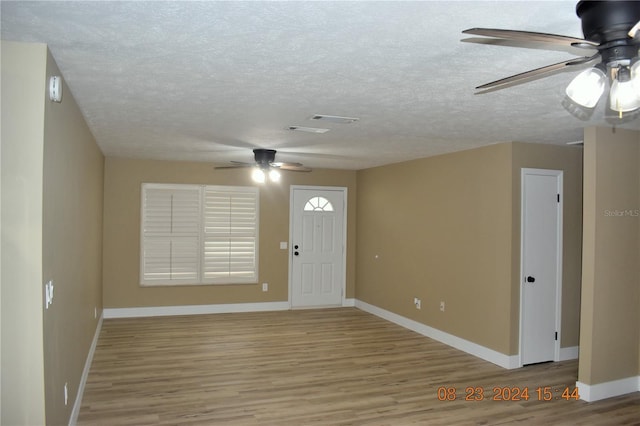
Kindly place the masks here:
[(640, 375), (640, 132), (585, 131), (578, 381)]

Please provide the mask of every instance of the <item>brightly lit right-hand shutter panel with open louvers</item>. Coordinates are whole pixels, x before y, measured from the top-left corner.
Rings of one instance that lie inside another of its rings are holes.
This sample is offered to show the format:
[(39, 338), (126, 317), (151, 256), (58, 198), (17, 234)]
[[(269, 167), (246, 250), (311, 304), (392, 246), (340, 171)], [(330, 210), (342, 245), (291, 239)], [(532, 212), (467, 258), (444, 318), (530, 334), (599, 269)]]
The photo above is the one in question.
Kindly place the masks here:
[(257, 188), (205, 187), (203, 219), (203, 280), (257, 282)]

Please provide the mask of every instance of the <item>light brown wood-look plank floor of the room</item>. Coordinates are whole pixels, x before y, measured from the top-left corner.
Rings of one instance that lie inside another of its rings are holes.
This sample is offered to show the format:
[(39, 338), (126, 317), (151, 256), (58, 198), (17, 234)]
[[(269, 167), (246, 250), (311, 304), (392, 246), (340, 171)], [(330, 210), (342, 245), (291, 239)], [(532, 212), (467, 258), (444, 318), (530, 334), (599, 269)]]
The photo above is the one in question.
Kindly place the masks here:
[(640, 424), (640, 392), (562, 399), (577, 365), (505, 370), (355, 308), (111, 319), (78, 424)]

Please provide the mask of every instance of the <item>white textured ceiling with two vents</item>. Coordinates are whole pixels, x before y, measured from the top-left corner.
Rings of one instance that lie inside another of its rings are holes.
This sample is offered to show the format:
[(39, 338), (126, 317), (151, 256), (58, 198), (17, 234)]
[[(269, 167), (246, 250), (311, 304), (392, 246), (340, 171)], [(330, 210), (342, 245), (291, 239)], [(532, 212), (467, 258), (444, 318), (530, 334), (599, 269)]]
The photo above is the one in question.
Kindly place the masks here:
[(464, 43), (462, 30), (582, 37), (574, 1), (2, 1), (1, 13), (3, 40), (49, 45), (108, 156), (217, 164), (261, 147), (362, 169), (505, 141), (564, 144), (609, 125), (601, 111), (581, 121), (562, 107), (579, 69), (474, 94), (573, 55)]

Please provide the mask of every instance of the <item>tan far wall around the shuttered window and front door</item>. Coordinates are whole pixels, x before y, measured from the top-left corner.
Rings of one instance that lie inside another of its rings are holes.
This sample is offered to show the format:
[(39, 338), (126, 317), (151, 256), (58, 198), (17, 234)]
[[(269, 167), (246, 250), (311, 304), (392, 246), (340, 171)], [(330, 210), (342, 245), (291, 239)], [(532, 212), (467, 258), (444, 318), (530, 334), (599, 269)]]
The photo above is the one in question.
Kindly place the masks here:
[(355, 294), (356, 172), (284, 172), (280, 184), (260, 186), (260, 284), (140, 287), (140, 185), (143, 182), (255, 185), (247, 169), (214, 170), (210, 163), (107, 158), (104, 199), (104, 306), (256, 303), (288, 300), (290, 185), (343, 186), (347, 201), (347, 297)]

